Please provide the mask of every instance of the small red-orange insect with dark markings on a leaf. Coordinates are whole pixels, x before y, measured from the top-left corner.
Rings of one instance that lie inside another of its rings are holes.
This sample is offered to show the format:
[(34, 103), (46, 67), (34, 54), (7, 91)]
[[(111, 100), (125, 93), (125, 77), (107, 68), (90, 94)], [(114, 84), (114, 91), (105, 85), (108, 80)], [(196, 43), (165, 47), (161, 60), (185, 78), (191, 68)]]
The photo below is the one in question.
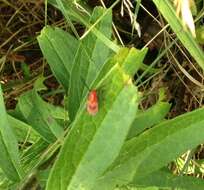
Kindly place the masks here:
[(97, 114), (97, 112), (98, 112), (98, 96), (97, 96), (96, 90), (92, 90), (89, 92), (86, 109), (90, 115), (96, 115)]

